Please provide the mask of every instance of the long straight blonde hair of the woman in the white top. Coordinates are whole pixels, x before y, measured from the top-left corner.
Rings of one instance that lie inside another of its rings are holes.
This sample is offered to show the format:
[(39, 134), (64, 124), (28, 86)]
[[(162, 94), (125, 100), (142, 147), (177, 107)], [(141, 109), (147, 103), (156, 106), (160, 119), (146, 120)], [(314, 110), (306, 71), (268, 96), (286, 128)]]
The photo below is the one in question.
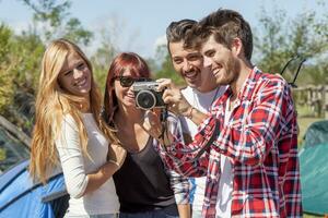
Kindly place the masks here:
[[(44, 53), (38, 93), (35, 104), (35, 126), (31, 145), (30, 172), (34, 179), (46, 183), (50, 170), (58, 165), (55, 141), (60, 134), (66, 114), (78, 125), (80, 145), (87, 157), (87, 134), (82, 122), (79, 106), (82, 98), (65, 92), (58, 84), (58, 75), (70, 53), (78, 55), (86, 63), (92, 75), (92, 65), (81, 49), (67, 39), (52, 41)], [(101, 92), (91, 76), (90, 108), (98, 128), (110, 140), (112, 136), (101, 120)]]

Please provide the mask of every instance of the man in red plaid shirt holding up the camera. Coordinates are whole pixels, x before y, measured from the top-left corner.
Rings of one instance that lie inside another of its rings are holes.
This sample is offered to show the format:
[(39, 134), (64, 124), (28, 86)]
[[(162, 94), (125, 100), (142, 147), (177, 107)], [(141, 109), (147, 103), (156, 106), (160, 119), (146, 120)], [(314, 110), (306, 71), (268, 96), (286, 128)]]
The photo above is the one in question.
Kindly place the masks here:
[(250, 63), (249, 24), (220, 9), (199, 22), (185, 46), (200, 49), (218, 86), (229, 87), (203, 114), (171, 80), (157, 81), (169, 109), (199, 124), (189, 145), (164, 137), (166, 164), (185, 175), (207, 175), (203, 217), (302, 217), (291, 89)]

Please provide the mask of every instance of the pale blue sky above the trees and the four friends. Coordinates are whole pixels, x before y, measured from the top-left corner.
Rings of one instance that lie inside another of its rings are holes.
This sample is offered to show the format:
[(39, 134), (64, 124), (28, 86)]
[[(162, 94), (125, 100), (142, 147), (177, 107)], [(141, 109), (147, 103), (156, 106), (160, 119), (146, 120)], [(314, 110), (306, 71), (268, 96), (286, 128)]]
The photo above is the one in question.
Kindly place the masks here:
[[(317, 5), (313, 0), (72, 0), (70, 13), (84, 27), (99, 35), (102, 27), (116, 24), (115, 44), (122, 51), (154, 57), (166, 41), (165, 29), (173, 21), (200, 20), (219, 8), (238, 11), (251, 27), (259, 25), (261, 9), (283, 9), (293, 17)], [(318, 9), (317, 9), (318, 10)], [(320, 9), (319, 9), (320, 10)], [(318, 11), (319, 11), (318, 10)], [(20, 0), (0, 0), (0, 22), (17, 33), (32, 23), (33, 11)], [(93, 45), (99, 43), (95, 38)], [(92, 50), (92, 49), (91, 49)]]

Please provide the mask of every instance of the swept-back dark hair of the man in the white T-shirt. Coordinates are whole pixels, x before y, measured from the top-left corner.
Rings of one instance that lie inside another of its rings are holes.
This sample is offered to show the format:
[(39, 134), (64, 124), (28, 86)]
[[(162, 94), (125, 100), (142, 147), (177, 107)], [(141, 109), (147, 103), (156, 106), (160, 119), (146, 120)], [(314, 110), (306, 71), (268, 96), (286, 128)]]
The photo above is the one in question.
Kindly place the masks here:
[(189, 48), (188, 40), (191, 40), (190, 34), (192, 27), (197, 24), (197, 21), (184, 19), (180, 21), (172, 22), (166, 28), (167, 49), (169, 51), (171, 43), (184, 41), (184, 47)]

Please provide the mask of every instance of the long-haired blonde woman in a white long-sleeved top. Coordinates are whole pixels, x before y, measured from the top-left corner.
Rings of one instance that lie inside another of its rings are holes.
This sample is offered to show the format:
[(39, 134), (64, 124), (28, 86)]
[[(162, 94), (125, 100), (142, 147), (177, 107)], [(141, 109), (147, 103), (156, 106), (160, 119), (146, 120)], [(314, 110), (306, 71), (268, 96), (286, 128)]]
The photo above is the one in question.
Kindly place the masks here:
[(99, 110), (101, 94), (85, 55), (69, 40), (51, 43), (43, 58), (30, 171), (45, 183), (61, 165), (70, 194), (66, 217), (113, 218), (119, 211), (112, 175), (126, 152), (108, 146)]

